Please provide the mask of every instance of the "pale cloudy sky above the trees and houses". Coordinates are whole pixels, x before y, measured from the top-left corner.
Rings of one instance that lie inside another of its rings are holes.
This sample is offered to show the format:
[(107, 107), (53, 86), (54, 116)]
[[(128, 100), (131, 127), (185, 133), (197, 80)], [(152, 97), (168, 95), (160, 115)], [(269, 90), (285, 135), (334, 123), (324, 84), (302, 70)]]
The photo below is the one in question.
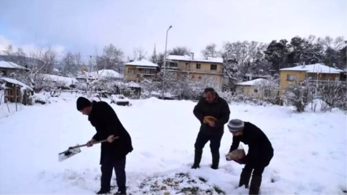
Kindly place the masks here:
[(347, 39), (347, 0), (0, 0), (0, 49), (51, 46), (60, 54), (99, 53), (113, 43), (126, 56), (187, 46), (270, 42), (310, 34)]

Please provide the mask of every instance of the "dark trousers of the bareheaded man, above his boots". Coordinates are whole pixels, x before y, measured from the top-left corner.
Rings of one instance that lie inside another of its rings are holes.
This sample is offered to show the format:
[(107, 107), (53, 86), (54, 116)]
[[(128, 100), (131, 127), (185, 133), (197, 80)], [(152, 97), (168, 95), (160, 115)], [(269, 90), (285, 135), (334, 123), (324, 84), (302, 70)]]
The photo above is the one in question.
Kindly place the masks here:
[[(218, 154), (219, 156), (219, 148), (220, 148), (220, 141), (222, 140), (221, 135), (207, 135), (202, 133), (201, 131), (197, 134), (196, 141), (194, 144), (195, 151), (196, 152), (202, 152), (202, 149), (205, 147), (206, 143), (210, 141), (210, 149), (211, 153)], [(219, 159), (219, 157), (218, 157)]]

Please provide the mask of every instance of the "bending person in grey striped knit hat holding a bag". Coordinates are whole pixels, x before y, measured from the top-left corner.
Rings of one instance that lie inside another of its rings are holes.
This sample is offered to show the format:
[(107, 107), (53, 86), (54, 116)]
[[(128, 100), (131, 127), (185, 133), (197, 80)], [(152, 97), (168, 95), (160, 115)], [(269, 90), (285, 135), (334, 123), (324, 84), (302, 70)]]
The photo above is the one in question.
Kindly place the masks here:
[[(239, 164), (245, 164), (241, 172), (239, 187), (245, 185), (248, 188), (253, 171), (249, 195), (258, 195), (263, 171), (273, 157), (271, 142), (260, 128), (250, 122), (232, 119), (228, 123), (228, 129), (232, 133), (232, 144), (226, 158)], [(248, 145), (246, 156), (239, 155), (238, 146), (240, 142)]]

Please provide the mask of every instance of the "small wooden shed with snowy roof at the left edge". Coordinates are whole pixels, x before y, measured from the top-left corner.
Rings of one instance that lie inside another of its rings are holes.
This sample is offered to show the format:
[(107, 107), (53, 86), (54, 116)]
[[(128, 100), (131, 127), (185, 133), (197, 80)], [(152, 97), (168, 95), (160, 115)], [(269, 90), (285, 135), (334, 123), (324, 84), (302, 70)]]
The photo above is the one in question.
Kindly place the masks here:
[(13, 78), (0, 78), (3, 82), (5, 82), (5, 103), (7, 101), (23, 103), (26, 105), (29, 100), (29, 96), (34, 91), (28, 85), (13, 79)]

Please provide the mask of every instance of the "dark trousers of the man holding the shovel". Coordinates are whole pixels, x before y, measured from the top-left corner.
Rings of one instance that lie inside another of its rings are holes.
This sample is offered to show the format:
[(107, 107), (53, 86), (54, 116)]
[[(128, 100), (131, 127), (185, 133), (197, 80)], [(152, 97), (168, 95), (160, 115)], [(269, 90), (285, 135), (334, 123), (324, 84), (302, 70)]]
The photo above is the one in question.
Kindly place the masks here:
[(112, 160), (110, 156), (104, 156), (101, 161), (101, 189), (110, 190), (113, 169), (115, 169), (118, 190), (125, 190), (126, 156), (121, 160)]

